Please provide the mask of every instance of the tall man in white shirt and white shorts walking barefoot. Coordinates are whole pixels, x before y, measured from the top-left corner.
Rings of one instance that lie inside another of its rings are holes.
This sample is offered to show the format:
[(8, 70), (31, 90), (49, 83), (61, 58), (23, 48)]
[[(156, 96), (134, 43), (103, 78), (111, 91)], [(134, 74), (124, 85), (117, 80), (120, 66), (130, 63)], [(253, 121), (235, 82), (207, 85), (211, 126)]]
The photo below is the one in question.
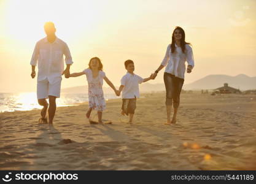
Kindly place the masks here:
[[(73, 61), (68, 45), (56, 37), (54, 23), (45, 23), (44, 31), (47, 36), (36, 43), (31, 58), (31, 77), (34, 79), (36, 76), (35, 67), (38, 61), (37, 100), (39, 105), (43, 106), (39, 123), (47, 123), (46, 113), (49, 105), (48, 123), (52, 124), (56, 111), (56, 98), (60, 98), (61, 75), (64, 74), (66, 78), (69, 78), (69, 68)], [(65, 70), (63, 55), (66, 63)], [(49, 104), (46, 101), (47, 98)]]

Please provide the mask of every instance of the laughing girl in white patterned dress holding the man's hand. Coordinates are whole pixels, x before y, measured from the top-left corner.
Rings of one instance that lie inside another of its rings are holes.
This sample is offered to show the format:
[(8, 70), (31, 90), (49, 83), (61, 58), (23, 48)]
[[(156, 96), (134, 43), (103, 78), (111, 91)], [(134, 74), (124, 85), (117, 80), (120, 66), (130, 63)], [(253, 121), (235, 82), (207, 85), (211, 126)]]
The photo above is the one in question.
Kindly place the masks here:
[[(91, 115), (91, 110), (98, 110), (98, 122), (103, 123), (102, 115), (103, 110), (106, 109), (106, 103), (103, 94), (103, 79), (106, 83), (111, 86), (118, 94), (115, 86), (112, 82), (107, 79), (105, 72), (103, 72), (103, 64), (101, 60), (97, 57), (91, 58), (89, 62), (89, 67), (82, 72), (70, 74), (69, 77), (79, 77), (81, 75), (86, 75), (88, 82), (88, 96), (89, 96), (89, 110), (86, 113), (86, 117), (89, 119)], [(95, 121), (90, 121), (90, 123), (96, 123)]]

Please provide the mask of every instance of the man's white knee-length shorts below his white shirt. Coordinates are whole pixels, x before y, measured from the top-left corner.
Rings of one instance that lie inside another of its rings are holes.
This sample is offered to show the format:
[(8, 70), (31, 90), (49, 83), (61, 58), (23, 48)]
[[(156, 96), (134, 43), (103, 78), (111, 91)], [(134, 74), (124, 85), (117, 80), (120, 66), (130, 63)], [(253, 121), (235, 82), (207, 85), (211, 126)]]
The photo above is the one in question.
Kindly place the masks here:
[(48, 98), (48, 96), (56, 96), (60, 98), (61, 79), (55, 83), (49, 83), (48, 79), (37, 81), (37, 99)]

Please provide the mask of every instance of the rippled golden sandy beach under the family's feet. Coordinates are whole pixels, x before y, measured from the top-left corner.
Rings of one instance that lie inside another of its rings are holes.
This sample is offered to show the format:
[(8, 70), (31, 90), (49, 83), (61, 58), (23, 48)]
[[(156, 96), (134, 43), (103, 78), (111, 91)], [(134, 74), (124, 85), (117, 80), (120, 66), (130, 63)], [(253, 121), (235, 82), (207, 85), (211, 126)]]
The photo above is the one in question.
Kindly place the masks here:
[(142, 96), (132, 125), (121, 99), (107, 101), (112, 125), (90, 125), (87, 104), (58, 107), (53, 126), (39, 110), (1, 113), (0, 169), (256, 170), (256, 95), (181, 94), (171, 126), (165, 94)]

